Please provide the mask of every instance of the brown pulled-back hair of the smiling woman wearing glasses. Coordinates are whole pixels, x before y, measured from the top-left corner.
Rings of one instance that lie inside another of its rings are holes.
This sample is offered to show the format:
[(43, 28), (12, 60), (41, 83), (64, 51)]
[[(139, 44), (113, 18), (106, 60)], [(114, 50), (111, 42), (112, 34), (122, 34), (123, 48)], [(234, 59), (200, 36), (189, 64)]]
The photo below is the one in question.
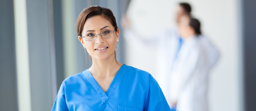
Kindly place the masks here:
[[(108, 20), (112, 24), (112, 26), (115, 28), (115, 31), (117, 31), (118, 27), (117, 27), (116, 18), (110, 9), (100, 7), (100, 6), (90, 6), (90, 7), (84, 8), (76, 20), (76, 32), (77, 32), (77, 35), (80, 36), (80, 38), (82, 38), (82, 31), (84, 28), (85, 21), (88, 18), (97, 16), (97, 15), (100, 15), (104, 17), (106, 20)], [(85, 53), (85, 56), (86, 56), (86, 53)], [(116, 51), (115, 51), (115, 58), (116, 58)], [(90, 56), (90, 59), (91, 59), (91, 56)]]

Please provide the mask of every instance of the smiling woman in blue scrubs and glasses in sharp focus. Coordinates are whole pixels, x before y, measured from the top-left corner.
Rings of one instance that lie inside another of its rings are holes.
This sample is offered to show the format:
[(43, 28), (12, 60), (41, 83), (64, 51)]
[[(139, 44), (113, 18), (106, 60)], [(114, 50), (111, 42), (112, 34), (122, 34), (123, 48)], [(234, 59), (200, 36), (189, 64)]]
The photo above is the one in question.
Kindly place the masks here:
[(85, 8), (76, 24), (92, 66), (63, 81), (52, 111), (171, 110), (149, 73), (117, 62), (119, 29), (111, 10)]

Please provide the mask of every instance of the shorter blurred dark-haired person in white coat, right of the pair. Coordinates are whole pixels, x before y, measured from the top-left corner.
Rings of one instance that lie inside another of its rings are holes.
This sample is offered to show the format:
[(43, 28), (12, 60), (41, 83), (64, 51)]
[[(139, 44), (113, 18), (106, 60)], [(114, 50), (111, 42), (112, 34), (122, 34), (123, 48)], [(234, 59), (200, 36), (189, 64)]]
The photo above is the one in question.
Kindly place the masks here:
[(169, 78), (171, 107), (178, 111), (207, 111), (209, 71), (219, 55), (212, 58), (214, 63), (209, 58), (214, 53), (208, 53), (197, 19), (183, 16), (179, 33), (183, 43), (173, 61)]

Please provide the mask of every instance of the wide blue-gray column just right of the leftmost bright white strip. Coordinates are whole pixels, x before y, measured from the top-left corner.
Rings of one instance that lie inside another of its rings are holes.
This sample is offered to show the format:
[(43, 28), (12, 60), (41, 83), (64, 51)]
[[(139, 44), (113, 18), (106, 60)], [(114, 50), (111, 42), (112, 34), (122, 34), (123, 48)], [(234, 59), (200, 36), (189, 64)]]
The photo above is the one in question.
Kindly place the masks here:
[(49, 111), (55, 99), (51, 0), (27, 0), (31, 110)]

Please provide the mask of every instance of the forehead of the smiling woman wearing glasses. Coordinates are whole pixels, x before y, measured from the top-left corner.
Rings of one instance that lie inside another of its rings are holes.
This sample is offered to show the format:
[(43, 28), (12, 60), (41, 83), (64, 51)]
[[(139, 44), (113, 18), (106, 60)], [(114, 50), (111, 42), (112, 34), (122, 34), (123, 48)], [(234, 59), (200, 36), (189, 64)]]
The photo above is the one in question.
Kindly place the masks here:
[(113, 28), (110, 21), (106, 20), (104, 17), (97, 15), (93, 16), (91, 18), (88, 18), (84, 23), (84, 30), (100, 30), (101, 28), (109, 26), (110, 28)]

